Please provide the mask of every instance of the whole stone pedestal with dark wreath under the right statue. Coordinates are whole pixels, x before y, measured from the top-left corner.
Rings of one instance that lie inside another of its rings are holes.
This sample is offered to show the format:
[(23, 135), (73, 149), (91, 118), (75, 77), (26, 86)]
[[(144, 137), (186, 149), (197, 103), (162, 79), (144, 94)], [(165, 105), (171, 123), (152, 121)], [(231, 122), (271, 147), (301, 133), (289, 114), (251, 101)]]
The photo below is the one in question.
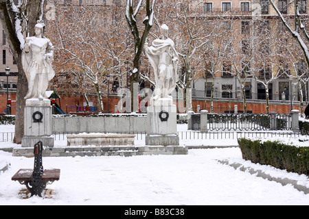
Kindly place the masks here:
[(179, 145), (176, 105), (170, 99), (159, 99), (147, 107), (146, 145)]

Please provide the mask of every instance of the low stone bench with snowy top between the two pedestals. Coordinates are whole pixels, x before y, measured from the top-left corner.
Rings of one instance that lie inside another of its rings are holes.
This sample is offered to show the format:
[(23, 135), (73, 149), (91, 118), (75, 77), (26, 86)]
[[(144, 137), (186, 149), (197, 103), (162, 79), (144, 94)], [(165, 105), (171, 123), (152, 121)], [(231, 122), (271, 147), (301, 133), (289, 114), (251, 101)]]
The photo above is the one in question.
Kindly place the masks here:
[(67, 146), (134, 145), (134, 134), (82, 133), (67, 135)]

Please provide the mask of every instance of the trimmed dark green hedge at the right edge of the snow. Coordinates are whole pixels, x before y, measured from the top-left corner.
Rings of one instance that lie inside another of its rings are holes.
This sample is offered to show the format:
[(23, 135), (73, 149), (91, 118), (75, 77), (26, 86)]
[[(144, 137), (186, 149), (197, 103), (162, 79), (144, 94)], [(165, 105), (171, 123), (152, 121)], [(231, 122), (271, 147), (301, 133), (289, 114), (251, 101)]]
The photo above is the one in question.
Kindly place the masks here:
[(309, 146), (297, 147), (281, 142), (238, 139), (242, 158), (309, 176)]

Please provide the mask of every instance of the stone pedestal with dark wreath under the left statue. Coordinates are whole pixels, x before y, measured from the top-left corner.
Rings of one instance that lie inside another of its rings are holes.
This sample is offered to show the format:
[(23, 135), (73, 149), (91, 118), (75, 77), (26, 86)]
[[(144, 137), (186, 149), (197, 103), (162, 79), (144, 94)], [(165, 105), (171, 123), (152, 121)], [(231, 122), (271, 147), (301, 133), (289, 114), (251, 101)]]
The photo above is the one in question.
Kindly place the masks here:
[(33, 147), (38, 141), (43, 146), (54, 146), (52, 137), (52, 106), (49, 99), (27, 99), (24, 110), (24, 137), (22, 147)]

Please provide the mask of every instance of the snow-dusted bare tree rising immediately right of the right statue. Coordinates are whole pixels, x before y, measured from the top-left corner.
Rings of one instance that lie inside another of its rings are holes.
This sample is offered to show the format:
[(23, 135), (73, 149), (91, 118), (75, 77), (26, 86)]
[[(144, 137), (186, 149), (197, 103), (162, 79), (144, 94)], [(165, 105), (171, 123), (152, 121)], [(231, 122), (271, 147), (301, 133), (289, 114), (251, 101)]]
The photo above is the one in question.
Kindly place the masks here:
[(178, 86), (183, 90), (186, 110), (192, 110), (191, 82), (194, 75), (198, 75), (201, 70), (199, 57), (216, 30), (216, 27), (205, 28), (207, 18), (200, 17), (201, 8), (203, 8), (202, 1), (171, 1), (168, 5), (168, 10), (171, 12), (169, 22), (174, 26), (171, 33), (176, 38), (176, 42), (180, 42), (177, 44), (177, 49), (179, 57), (183, 60), (183, 66)]

